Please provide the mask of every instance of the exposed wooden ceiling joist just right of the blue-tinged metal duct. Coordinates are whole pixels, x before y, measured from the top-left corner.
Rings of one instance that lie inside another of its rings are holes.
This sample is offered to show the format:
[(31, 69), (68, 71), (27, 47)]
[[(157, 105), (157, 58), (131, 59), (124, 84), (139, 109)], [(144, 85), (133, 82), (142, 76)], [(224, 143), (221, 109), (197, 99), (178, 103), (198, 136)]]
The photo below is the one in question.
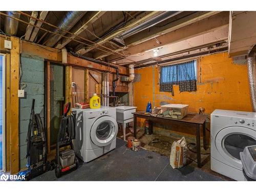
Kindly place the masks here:
[[(73, 33), (74, 35), (68, 34), (67, 36), (69, 36), (70, 38), (75, 38), (77, 35), (79, 35), (80, 33), (82, 33), (84, 30), (86, 30), (86, 28), (88, 28), (88, 26), (90, 26), (91, 24), (93, 24), (98, 18), (100, 18), (106, 11), (93, 11), (92, 13), (88, 14), (83, 20), (80, 20), (82, 25), (80, 25), (80, 23), (76, 24), (72, 29), (71, 29), (71, 33)], [(58, 44), (56, 45), (56, 49), (62, 49), (63, 47), (65, 47), (69, 42), (71, 41), (71, 39), (61, 39)]]

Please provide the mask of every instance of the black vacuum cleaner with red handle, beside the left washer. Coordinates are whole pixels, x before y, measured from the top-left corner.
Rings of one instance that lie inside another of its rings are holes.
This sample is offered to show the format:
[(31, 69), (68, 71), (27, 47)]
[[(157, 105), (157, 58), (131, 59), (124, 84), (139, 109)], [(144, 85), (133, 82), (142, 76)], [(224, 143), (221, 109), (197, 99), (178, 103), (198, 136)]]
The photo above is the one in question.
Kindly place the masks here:
[[(71, 169), (78, 168), (79, 161), (74, 152), (72, 140), (75, 139), (75, 112), (68, 115), (71, 103), (65, 105), (64, 114), (61, 117), (55, 156), (55, 175), (57, 178)], [(60, 148), (65, 147), (65, 150)]]

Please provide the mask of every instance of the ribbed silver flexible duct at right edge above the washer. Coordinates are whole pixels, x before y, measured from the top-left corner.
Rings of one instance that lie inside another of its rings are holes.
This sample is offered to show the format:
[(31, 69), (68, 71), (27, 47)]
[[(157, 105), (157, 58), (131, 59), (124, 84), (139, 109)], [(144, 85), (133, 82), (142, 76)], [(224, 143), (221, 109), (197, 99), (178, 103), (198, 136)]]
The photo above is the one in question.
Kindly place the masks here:
[(248, 80), (251, 94), (252, 110), (256, 112), (256, 46), (252, 48), (247, 57)]

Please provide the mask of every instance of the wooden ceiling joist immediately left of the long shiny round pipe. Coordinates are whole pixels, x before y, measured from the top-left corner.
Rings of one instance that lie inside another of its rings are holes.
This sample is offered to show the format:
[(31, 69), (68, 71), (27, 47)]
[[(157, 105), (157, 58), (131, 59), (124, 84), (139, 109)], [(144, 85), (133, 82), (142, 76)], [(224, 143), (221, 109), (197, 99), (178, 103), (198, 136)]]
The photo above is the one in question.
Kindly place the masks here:
[[(130, 20), (130, 22), (127, 22), (127, 24), (122, 27), (121, 29), (111, 33), (110, 35), (106, 36), (105, 38), (101, 39), (100, 41), (97, 42), (97, 44), (95, 44), (95, 46), (98, 46), (98, 45), (102, 45), (104, 44), (105, 42), (113, 39), (114, 37), (122, 34), (123, 32), (125, 31), (128, 31), (142, 23), (144, 23), (146, 20), (148, 19), (151, 19), (153, 18), (154, 16), (160, 14), (161, 12), (159, 11), (152, 11), (152, 12), (143, 12), (141, 13), (140, 15), (138, 15), (136, 18)], [(76, 53), (78, 54), (85, 54), (91, 50), (93, 50), (94, 48), (93, 47), (90, 47), (90, 48), (82, 48), (80, 50), (77, 50)]]

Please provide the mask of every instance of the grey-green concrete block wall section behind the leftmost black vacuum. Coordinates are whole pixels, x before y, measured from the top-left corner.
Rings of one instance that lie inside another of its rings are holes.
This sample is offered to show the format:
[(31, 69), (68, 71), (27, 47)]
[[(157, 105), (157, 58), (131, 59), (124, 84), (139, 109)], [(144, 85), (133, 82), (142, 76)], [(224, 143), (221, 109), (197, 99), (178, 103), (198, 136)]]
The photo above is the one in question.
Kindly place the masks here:
[(23, 76), (21, 82), (27, 87), (25, 97), (19, 99), (19, 160), (20, 168), (25, 168), (27, 159), (27, 131), (32, 99), (35, 99), (35, 113), (40, 113), (44, 122), (45, 70), (44, 61), (22, 57)]

